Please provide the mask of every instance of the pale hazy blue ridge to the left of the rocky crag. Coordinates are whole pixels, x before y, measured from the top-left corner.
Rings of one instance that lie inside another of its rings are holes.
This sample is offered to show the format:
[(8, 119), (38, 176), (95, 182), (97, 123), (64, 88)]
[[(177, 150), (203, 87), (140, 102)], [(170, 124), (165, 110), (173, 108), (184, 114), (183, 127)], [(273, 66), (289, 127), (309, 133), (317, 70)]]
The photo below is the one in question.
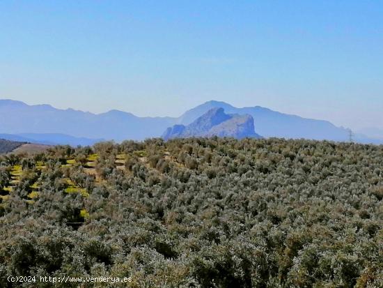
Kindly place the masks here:
[(171, 117), (138, 117), (118, 110), (93, 114), (56, 109), (50, 105), (26, 105), (13, 100), (0, 100), (0, 115), (1, 133), (60, 133), (116, 141), (158, 137), (174, 123)]

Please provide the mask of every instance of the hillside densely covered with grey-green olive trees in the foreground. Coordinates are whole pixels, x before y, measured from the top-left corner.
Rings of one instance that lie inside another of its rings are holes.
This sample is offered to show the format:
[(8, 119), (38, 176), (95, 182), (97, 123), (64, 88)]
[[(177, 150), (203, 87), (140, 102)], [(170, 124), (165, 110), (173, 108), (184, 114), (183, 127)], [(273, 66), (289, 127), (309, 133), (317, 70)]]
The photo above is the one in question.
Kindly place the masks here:
[(383, 146), (218, 137), (56, 146), (0, 156), (0, 192), (1, 287), (20, 286), (8, 275), (383, 287)]

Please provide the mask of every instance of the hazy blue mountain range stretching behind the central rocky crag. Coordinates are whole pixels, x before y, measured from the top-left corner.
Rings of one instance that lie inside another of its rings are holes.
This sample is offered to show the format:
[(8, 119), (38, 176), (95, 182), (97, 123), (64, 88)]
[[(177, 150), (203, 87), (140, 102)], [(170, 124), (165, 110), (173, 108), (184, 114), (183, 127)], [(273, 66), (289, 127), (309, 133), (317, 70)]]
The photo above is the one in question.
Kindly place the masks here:
[[(260, 106), (237, 108), (219, 101), (198, 105), (180, 117), (139, 117), (118, 110), (93, 114), (56, 109), (51, 105), (26, 105), (15, 100), (0, 100), (0, 134), (3, 138), (24, 138), (19, 141), (31, 139), (29, 142), (73, 146), (93, 144), (100, 139), (114, 139), (117, 142), (124, 139), (142, 140), (160, 137), (167, 128), (176, 124), (188, 126), (214, 108), (223, 108), (226, 114), (251, 116), (256, 133), (262, 137), (348, 140), (348, 130), (329, 121), (306, 119)], [(220, 132), (226, 135), (226, 132)], [(370, 139), (364, 135), (355, 135), (354, 140), (383, 143), (382, 139)]]

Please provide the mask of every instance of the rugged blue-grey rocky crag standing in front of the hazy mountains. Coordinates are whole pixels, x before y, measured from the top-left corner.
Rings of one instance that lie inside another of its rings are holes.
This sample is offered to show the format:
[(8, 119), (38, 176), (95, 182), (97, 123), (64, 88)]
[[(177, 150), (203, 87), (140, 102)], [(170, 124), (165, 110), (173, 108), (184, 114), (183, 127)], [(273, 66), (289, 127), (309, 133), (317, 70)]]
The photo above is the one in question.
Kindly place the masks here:
[(212, 108), (187, 126), (177, 124), (167, 128), (162, 138), (165, 140), (187, 137), (257, 137), (254, 120), (250, 115), (225, 114), (221, 107)]

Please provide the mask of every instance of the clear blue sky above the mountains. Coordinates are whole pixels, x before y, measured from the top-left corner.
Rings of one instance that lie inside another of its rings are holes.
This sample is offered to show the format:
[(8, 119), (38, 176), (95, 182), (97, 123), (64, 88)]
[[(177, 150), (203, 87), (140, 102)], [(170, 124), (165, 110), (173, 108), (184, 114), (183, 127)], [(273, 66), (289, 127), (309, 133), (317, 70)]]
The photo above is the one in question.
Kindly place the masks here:
[(0, 1), (0, 98), (383, 128), (383, 1)]

